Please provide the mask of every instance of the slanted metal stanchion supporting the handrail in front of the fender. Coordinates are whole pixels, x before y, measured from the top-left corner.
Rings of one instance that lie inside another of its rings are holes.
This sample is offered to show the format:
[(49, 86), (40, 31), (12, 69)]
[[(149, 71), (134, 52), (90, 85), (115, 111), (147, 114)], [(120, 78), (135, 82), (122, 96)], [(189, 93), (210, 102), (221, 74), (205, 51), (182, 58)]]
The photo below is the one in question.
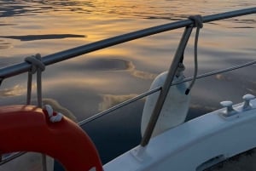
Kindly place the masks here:
[(190, 34), (193, 30), (192, 26), (188, 26), (185, 28), (183, 32), (183, 37), (180, 40), (180, 43), (178, 44), (176, 54), (174, 55), (174, 58), (172, 60), (172, 65), (169, 68), (166, 82), (164, 83), (160, 95), (158, 97), (158, 100), (156, 101), (156, 104), (154, 106), (154, 111), (150, 117), (150, 120), (148, 122), (148, 126), (145, 130), (145, 133), (143, 134), (143, 140), (141, 141), (142, 146), (148, 145), (148, 141), (150, 140), (150, 137), (154, 131), (154, 126), (158, 120), (158, 117), (160, 116), (160, 111), (162, 109), (162, 106), (164, 105), (164, 102), (166, 100), (166, 95), (168, 94), (169, 88), (172, 85), (173, 77), (175, 76), (175, 73), (177, 71), (177, 66), (180, 60), (183, 57), (184, 49), (187, 46), (187, 43), (189, 41)]

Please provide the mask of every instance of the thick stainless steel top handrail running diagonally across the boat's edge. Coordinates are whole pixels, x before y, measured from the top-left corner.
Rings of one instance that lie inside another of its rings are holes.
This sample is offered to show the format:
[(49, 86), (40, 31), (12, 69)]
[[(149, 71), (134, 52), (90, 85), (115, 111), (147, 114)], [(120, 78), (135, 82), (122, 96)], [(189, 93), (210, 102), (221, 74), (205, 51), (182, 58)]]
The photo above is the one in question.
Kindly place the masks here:
[[(254, 13), (256, 13), (256, 7), (253, 7), (250, 9), (240, 9), (240, 10), (230, 11), (230, 12), (221, 13), (221, 14), (207, 15), (202, 17), (202, 21), (206, 23), (214, 20), (223, 20), (231, 17), (241, 16), (246, 14), (254, 14)], [(95, 43), (90, 43), (90, 44), (86, 44), (76, 48), (70, 48), (55, 54), (46, 55), (44, 56), (44, 58), (42, 58), (42, 62), (44, 63), (45, 66), (48, 66), (56, 62), (60, 62), (62, 60), (68, 60), (70, 58), (79, 56), (81, 54), (88, 54), (90, 52), (93, 52), (102, 48), (108, 48), (119, 43), (129, 42), (137, 38), (147, 37), (147, 36), (154, 35), (164, 31), (171, 31), (171, 30), (182, 28), (192, 24), (193, 24), (192, 20), (181, 20), (174, 23), (150, 27), (140, 31), (133, 31), (117, 37), (107, 38)], [(15, 64), (13, 66), (7, 66), (0, 69), (0, 78), (1, 80), (3, 80), (7, 77), (13, 77), (20, 73), (29, 71), (30, 68), (31, 66), (26, 62)]]

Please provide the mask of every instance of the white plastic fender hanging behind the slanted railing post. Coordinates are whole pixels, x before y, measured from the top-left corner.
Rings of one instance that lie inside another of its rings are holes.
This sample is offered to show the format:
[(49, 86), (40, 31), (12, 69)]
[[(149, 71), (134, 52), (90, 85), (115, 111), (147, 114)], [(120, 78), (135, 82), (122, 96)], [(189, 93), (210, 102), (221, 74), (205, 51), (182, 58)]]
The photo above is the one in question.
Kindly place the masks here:
[[(167, 71), (161, 73), (154, 79), (154, 82), (151, 84), (150, 89), (158, 88), (163, 86), (166, 81)], [(175, 76), (173, 78), (172, 83), (177, 81), (182, 81), (184, 79), (183, 73), (179, 74), (179, 76)], [(188, 83), (180, 83), (172, 86), (169, 89), (169, 92), (166, 96), (166, 101), (163, 105), (163, 108), (160, 112), (160, 117), (155, 125), (154, 132), (152, 137), (161, 134), (167, 129), (173, 128), (184, 122), (187, 117), (187, 113), (189, 111), (189, 101), (190, 101), (190, 93), (188, 95), (185, 94), (186, 89), (189, 87)], [(142, 135), (147, 128), (149, 119), (154, 110), (154, 105), (156, 104), (156, 100), (158, 99), (160, 92), (156, 92), (154, 94), (148, 95), (144, 108), (143, 108), (143, 117), (141, 124), (141, 132)]]

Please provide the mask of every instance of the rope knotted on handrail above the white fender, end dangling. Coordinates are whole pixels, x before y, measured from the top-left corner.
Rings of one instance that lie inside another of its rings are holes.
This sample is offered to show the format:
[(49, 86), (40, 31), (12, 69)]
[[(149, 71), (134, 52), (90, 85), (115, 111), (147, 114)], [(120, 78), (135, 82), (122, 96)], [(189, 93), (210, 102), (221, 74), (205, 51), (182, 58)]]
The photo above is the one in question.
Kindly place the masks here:
[(198, 63), (197, 63), (197, 44), (198, 44), (198, 37), (199, 37), (199, 31), (203, 27), (203, 20), (201, 18), (201, 15), (193, 15), (189, 16), (189, 20), (194, 21), (194, 26), (196, 27), (195, 32), (195, 45), (194, 45), (194, 56), (195, 56), (195, 71), (194, 71), (194, 77), (192, 82), (189, 85), (189, 88), (186, 89), (185, 94), (189, 94), (190, 89), (193, 87), (197, 75), (198, 70)]

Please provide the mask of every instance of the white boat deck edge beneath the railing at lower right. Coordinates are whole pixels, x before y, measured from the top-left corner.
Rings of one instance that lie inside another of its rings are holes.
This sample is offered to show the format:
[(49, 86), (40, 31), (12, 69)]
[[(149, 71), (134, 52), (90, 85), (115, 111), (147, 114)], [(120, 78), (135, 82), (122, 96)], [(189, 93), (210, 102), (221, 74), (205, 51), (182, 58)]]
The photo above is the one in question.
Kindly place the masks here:
[(172, 128), (154, 137), (148, 146), (137, 146), (108, 162), (104, 170), (203, 170), (250, 150), (256, 145), (256, 100), (251, 103), (253, 109), (232, 117), (220, 115), (221, 109)]

